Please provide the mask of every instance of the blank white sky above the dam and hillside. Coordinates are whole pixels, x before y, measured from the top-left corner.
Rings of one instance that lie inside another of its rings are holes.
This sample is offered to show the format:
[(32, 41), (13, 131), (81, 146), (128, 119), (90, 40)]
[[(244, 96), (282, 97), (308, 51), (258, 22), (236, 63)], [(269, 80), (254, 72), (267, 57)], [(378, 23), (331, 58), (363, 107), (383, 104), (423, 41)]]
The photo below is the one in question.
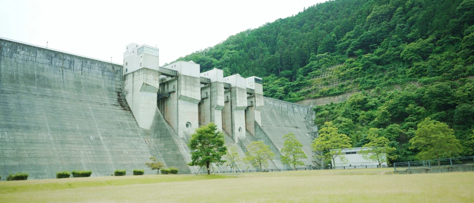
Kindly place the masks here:
[(160, 65), (326, 0), (0, 0), (0, 37), (122, 63), (157, 46)]

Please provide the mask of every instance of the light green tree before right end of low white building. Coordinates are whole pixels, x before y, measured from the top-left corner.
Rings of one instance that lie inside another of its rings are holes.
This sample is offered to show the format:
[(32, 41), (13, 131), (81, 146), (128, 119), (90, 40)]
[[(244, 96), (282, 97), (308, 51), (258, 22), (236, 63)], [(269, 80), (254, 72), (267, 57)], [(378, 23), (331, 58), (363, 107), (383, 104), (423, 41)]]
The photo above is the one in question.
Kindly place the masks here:
[(389, 164), (390, 155), (397, 149), (389, 146), (389, 139), (379, 136), (377, 128), (370, 128), (367, 139), (370, 141), (365, 144), (364, 150), (360, 151), (362, 157), (366, 160), (377, 161), (378, 167), (382, 166), (383, 162)]

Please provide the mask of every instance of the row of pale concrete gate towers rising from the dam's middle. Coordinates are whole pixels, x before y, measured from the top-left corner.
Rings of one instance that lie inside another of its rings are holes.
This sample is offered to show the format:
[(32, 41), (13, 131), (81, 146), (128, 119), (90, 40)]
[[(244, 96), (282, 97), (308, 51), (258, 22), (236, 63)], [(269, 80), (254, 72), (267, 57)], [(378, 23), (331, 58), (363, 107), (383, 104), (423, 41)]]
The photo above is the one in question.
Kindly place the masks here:
[(262, 78), (224, 78), (217, 68), (200, 73), (193, 61), (160, 67), (159, 49), (136, 43), (125, 47), (123, 67), (125, 98), (143, 129), (151, 129), (159, 112), (180, 138), (214, 122), (237, 143), (261, 123)]

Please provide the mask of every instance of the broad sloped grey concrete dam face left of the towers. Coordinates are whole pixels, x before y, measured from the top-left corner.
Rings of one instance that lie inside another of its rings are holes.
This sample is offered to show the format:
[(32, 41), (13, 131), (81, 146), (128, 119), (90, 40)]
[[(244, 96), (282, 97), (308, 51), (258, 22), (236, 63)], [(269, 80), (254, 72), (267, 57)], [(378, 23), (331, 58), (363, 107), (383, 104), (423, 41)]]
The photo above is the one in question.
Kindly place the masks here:
[(122, 66), (0, 40), (0, 173), (148, 170)]

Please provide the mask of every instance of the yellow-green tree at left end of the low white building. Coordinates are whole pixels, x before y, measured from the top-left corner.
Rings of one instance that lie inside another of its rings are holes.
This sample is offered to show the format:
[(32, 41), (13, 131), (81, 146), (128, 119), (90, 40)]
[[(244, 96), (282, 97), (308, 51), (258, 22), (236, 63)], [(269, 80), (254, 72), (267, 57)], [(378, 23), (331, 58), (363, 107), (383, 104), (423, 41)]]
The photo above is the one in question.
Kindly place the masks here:
[[(351, 148), (351, 138), (345, 134), (339, 134), (338, 128), (332, 122), (324, 123), (325, 127), (319, 130), (319, 137), (314, 139), (311, 146), (313, 151), (322, 151), (322, 158), (331, 158), (336, 163), (336, 157), (341, 155), (344, 148)], [(339, 160), (347, 163), (347, 158), (339, 156)]]

